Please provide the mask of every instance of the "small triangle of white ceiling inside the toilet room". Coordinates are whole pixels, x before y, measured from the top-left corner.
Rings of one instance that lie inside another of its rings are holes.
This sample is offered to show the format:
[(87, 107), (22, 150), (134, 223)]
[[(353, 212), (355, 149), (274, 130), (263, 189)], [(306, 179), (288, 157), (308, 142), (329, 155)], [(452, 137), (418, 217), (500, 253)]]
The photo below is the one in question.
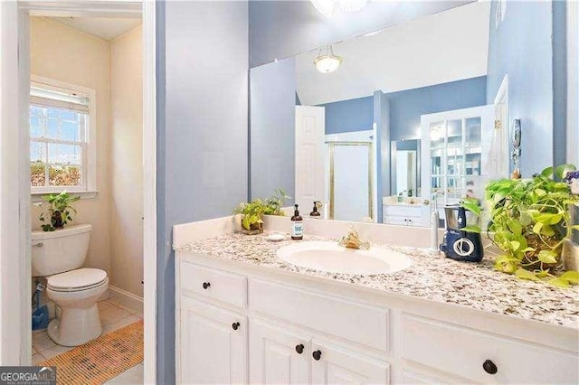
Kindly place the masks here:
[(90, 33), (104, 40), (112, 40), (117, 36), (135, 28), (141, 23), (140, 18), (120, 17), (54, 17), (49, 19), (68, 25), (76, 30)]

